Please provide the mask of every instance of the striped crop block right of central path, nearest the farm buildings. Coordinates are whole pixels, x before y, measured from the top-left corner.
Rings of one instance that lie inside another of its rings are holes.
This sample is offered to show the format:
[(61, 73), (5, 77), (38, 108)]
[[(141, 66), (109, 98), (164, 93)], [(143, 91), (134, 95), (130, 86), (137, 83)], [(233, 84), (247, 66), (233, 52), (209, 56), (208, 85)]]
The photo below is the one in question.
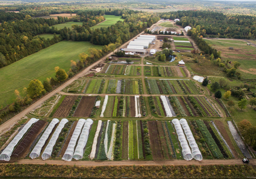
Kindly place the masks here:
[(145, 76), (155, 77), (186, 77), (187, 71), (175, 66), (144, 66)]

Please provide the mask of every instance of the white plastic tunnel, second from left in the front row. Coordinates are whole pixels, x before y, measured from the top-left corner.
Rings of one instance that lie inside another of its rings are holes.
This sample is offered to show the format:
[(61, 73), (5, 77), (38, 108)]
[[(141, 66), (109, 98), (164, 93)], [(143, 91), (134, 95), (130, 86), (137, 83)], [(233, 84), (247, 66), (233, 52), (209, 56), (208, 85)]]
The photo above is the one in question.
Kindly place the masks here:
[(40, 156), (42, 147), (45, 145), (45, 141), (48, 139), (50, 133), (52, 133), (52, 130), (54, 128), (54, 126), (60, 122), (58, 119), (54, 118), (52, 120), (52, 122), (50, 122), (48, 128), (46, 128), (44, 134), (42, 134), (42, 137), (40, 138), (40, 140), (37, 142), (37, 145), (34, 147), (34, 149), (32, 150), (32, 152), (30, 153), (29, 157), (34, 159)]

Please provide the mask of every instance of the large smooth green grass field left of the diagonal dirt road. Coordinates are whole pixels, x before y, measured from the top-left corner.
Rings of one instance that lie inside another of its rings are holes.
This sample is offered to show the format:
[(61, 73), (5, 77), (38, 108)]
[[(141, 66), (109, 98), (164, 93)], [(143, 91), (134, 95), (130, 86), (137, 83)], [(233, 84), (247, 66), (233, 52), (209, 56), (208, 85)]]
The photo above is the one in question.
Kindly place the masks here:
[(91, 47), (101, 49), (100, 45), (89, 42), (61, 41), (3, 67), (0, 69), (0, 107), (13, 102), (14, 90), (22, 92), (23, 87), (27, 87), (32, 79), (44, 81), (54, 77), (54, 67), (59, 66), (68, 71), (70, 60), (77, 61), (78, 55), (86, 53)]

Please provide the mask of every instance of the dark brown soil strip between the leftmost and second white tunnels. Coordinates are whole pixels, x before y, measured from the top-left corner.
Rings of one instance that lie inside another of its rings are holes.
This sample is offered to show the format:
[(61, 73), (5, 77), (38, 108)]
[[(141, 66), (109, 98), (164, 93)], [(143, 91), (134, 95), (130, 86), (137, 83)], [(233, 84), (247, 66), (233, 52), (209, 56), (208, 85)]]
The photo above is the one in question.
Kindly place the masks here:
[(41, 130), (44, 129), (46, 121), (37, 121), (27, 132), (26, 136), (23, 137), (22, 141), (15, 147), (11, 157), (20, 158), (25, 157), (29, 153), (30, 145), (36, 139), (37, 135), (41, 133)]

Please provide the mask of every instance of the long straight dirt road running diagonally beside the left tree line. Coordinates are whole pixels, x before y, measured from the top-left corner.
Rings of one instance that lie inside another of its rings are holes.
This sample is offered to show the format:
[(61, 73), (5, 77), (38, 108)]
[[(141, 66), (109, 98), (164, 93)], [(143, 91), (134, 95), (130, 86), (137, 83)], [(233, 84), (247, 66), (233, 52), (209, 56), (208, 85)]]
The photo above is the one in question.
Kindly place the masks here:
[[(141, 33), (137, 34), (135, 37), (133, 37), (131, 40), (139, 37), (139, 35), (143, 34), (144, 31), (142, 31)], [(127, 46), (129, 41), (125, 42), (122, 46)], [(117, 51), (119, 48), (115, 49), (113, 52)], [(28, 108), (26, 108), (25, 110), (23, 110), (22, 112), (18, 113), (16, 116), (14, 116), (13, 118), (11, 118), (10, 120), (6, 121), (5, 123), (3, 123), (0, 126), (0, 134), (3, 132), (3, 130), (8, 129), (10, 126), (13, 126), (19, 119), (21, 119), (23, 116), (25, 116), (27, 113), (29, 113), (31, 110), (33, 110), (34, 108), (36, 108), (38, 105), (42, 104), (43, 102), (45, 102), (46, 100), (48, 100), (50, 97), (54, 96), (54, 94), (61, 92), (62, 89), (64, 89), (66, 86), (70, 85), (72, 82), (74, 82), (76, 79), (84, 77), (84, 75), (88, 74), (90, 69), (92, 69), (92, 67), (98, 65), (99, 63), (102, 63), (105, 61), (106, 58), (110, 57), (113, 52), (105, 55), (103, 58), (99, 59), (97, 62), (92, 63), (92, 65), (86, 67), (86, 69), (82, 70), (80, 73), (74, 75), (74, 77), (70, 78), (68, 81), (66, 81), (65, 83), (63, 83), (61, 86), (57, 87), (56, 89), (54, 89), (52, 92), (46, 94), (44, 97), (42, 97), (41, 99), (39, 99), (38, 101), (34, 102), (34, 104), (30, 105)]]

